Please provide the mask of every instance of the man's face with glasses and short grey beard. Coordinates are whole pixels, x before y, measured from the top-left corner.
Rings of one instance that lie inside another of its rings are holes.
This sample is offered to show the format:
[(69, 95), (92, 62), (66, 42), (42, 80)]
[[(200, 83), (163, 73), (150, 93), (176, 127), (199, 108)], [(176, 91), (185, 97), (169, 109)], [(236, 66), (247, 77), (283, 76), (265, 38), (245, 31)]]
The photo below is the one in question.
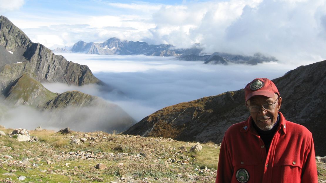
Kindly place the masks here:
[[(281, 107), (282, 98), (279, 97), (277, 100), (277, 94), (274, 94), (274, 97), (268, 98), (263, 95), (256, 95), (251, 97), (247, 103), (246, 106), (260, 106), (260, 109), (258, 112), (250, 112), (250, 115), (252, 119), (254, 120), (255, 124), (259, 127), (259, 129), (267, 131), (273, 128), (274, 124), (277, 120), (277, 111)], [(262, 105), (265, 103), (273, 103), (275, 102), (274, 108), (270, 110), (265, 110)]]

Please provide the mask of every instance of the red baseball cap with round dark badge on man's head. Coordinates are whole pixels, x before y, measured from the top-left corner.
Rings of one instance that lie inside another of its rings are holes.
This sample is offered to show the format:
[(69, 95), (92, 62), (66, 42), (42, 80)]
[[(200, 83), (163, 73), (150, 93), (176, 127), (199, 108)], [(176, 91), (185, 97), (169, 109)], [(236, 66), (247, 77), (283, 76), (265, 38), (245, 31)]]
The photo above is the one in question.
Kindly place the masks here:
[(255, 95), (263, 95), (271, 98), (274, 96), (274, 93), (280, 96), (273, 81), (267, 78), (256, 78), (248, 83), (244, 88), (245, 102)]

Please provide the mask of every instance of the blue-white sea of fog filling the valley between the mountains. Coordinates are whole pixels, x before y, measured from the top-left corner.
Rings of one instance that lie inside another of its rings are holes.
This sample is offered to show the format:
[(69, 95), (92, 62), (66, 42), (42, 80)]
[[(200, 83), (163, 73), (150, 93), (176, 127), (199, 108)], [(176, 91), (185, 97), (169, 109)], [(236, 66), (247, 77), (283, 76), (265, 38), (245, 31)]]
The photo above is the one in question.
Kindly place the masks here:
[(121, 106), (136, 121), (166, 106), (242, 89), (256, 77), (281, 77), (298, 66), (283, 63), (208, 65), (201, 61), (143, 55), (63, 55), (68, 61), (88, 65), (97, 78), (115, 90), (103, 91), (97, 85), (43, 83), (47, 89), (59, 93), (79, 90), (99, 96)]

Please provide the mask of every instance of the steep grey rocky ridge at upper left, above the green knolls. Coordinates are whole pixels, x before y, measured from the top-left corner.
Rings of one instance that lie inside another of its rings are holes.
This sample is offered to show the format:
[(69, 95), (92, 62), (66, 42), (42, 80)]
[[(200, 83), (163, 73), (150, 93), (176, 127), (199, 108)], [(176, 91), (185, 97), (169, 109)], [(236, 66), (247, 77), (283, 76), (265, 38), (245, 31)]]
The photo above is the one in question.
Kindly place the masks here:
[[(86, 65), (68, 62), (39, 43), (33, 43), (6, 17), (0, 16), (0, 76), (18, 78), (30, 73), (41, 82), (61, 82), (68, 85), (103, 84)], [(21, 62), (21, 63), (19, 63)], [(19, 64), (17, 64), (19, 63)]]

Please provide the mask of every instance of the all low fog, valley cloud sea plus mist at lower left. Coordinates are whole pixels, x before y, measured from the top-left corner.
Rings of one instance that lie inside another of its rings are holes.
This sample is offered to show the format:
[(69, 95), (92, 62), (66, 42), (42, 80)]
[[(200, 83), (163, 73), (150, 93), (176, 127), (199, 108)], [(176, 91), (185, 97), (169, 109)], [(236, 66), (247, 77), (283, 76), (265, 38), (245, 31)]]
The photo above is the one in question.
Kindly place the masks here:
[[(212, 65), (202, 61), (179, 61), (174, 57), (60, 54), (68, 61), (89, 66), (109, 87), (42, 83), (47, 89), (58, 93), (78, 90), (101, 97), (120, 106), (136, 122), (167, 106), (242, 89), (256, 77), (281, 77), (300, 65), (284, 62)], [(117, 124), (125, 114), (110, 113), (98, 106), (65, 108), (53, 113), (30, 106), (10, 107), (0, 100), (0, 124), (6, 128), (32, 130), (41, 126), (59, 130), (70, 127), (84, 132), (121, 132), (130, 127), (126, 122)]]

